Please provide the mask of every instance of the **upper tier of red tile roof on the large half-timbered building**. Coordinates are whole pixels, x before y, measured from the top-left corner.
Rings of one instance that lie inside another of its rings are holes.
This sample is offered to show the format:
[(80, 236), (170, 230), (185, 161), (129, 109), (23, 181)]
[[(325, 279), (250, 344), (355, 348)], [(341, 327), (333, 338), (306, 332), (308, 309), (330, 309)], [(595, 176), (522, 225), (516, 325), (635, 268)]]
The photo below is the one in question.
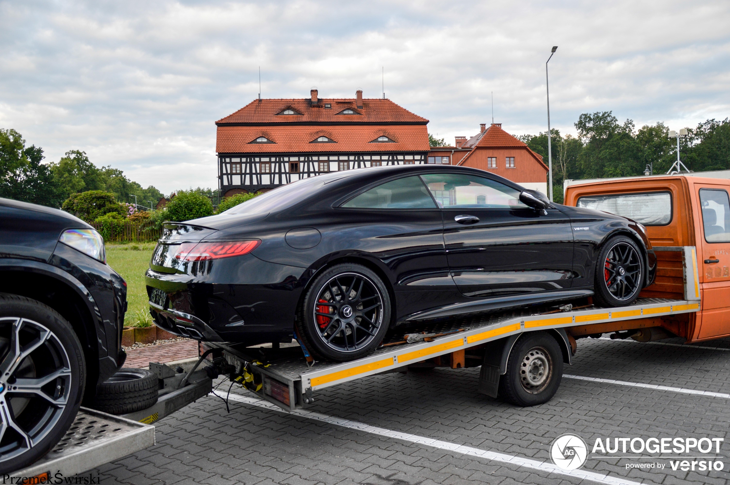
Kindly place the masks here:
[[(326, 108), (330, 104), (331, 108)], [(340, 115), (344, 109), (350, 108), (356, 115)], [(285, 109), (292, 109), (300, 115), (279, 115)], [(216, 121), (216, 125), (228, 125), (231, 123), (251, 123), (256, 125), (279, 124), (279, 123), (347, 123), (347, 124), (419, 124), (426, 125), (429, 120), (414, 115), (390, 99), (364, 99), (363, 107), (356, 106), (356, 100), (352, 99), (318, 99), (315, 107), (309, 98), (296, 99), (261, 99), (251, 101), (232, 115), (228, 115)]]

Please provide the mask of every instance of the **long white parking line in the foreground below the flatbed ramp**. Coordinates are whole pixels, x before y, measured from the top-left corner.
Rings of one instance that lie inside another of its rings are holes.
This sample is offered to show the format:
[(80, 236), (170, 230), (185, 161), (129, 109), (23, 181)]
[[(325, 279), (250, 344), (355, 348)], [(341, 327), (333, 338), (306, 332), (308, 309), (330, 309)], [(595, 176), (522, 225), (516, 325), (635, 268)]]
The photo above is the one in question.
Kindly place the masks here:
[[(216, 395), (226, 399), (226, 393), (221, 391), (214, 391)], [(233, 394), (228, 397), (231, 400), (238, 401), (239, 403), (250, 404), (251, 406), (258, 406), (259, 408), (266, 408), (270, 411), (280, 411), (286, 413), (283, 409), (278, 406), (274, 406), (272, 403), (268, 403), (264, 400), (258, 399), (258, 397), (248, 397), (239, 394)], [(373, 435), (384, 436), (385, 438), (395, 438), (397, 440), (407, 441), (409, 443), (416, 443), (419, 445), (431, 446), (447, 451), (453, 451), (455, 453), (465, 454), (470, 457), (491, 459), (496, 462), (503, 462), (510, 465), (522, 466), (527, 468), (533, 468), (535, 470), (542, 470), (549, 473), (558, 473), (559, 475), (572, 476), (575, 478), (582, 478), (585, 480), (594, 481), (599, 484), (611, 484), (611, 485), (639, 485), (639, 482), (629, 481), (624, 478), (607, 476), (603, 473), (595, 473), (588, 470), (562, 470), (556, 467), (550, 462), (539, 462), (535, 459), (516, 457), (510, 454), (497, 453), (496, 451), (487, 451), (483, 449), (473, 448), (472, 446), (459, 445), (457, 443), (449, 443), (448, 441), (434, 440), (433, 438), (426, 438), (425, 436), (411, 435), (407, 432), (399, 432), (393, 430), (386, 430), (385, 428), (370, 426), (361, 422), (350, 421), (350, 419), (337, 418), (334, 416), (328, 416), (326, 414), (315, 413), (314, 411), (307, 411), (305, 409), (296, 409), (291, 411), (291, 414), (302, 416), (307, 419), (314, 419), (315, 421), (324, 422), (327, 424), (334, 424), (335, 426), (341, 426), (350, 428), (351, 430), (358, 430), (361, 432), (368, 432)]]

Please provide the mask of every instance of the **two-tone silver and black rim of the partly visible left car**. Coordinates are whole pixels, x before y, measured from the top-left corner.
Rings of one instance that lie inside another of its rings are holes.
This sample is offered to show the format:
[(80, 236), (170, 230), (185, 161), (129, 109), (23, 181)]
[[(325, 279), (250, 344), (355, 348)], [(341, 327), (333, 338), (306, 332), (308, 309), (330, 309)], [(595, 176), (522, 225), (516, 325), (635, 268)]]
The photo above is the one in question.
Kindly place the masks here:
[(55, 333), (33, 320), (0, 318), (0, 388), (0, 455), (6, 461), (37, 446), (69, 403), (69, 355)]

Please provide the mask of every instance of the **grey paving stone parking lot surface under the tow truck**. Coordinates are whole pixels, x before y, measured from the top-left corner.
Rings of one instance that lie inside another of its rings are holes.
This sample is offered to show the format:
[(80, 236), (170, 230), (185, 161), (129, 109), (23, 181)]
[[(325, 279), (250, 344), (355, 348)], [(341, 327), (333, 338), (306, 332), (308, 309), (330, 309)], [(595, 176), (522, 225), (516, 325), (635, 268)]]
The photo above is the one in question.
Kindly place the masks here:
[[(730, 340), (710, 343), (730, 348)], [(565, 373), (730, 393), (730, 352), (581, 339)], [(730, 400), (564, 379), (549, 403), (518, 408), (477, 394), (479, 369), (372, 376), (315, 393), (312, 411), (516, 457), (549, 461), (564, 432), (596, 438), (724, 438), (723, 471), (672, 470), (669, 459), (589, 454), (585, 470), (643, 484), (730, 485)], [(228, 390), (220, 381), (219, 389)], [(252, 396), (242, 389), (231, 389)], [(209, 395), (156, 424), (155, 446), (96, 470), (112, 484), (590, 484), (323, 424)], [(623, 454), (622, 454), (623, 456)], [(696, 456), (696, 454), (691, 454)], [(664, 470), (626, 470), (660, 462)]]

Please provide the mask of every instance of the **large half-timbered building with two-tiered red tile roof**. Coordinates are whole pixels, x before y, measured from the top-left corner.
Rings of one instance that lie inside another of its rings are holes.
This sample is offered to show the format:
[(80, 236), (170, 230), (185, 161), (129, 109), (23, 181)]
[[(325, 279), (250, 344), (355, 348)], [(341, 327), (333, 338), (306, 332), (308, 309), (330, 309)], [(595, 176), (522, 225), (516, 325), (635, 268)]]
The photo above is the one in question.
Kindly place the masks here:
[(429, 120), (389, 99), (257, 99), (218, 120), (223, 197), (330, 171), (427, 163)]

